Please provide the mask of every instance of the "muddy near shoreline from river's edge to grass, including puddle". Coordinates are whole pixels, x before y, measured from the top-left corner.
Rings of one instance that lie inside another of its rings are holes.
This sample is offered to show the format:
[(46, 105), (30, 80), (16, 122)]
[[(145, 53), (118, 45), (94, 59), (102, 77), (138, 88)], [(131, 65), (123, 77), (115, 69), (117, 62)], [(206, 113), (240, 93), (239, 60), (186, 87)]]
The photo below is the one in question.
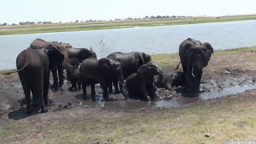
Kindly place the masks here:
[[(232, 52), (232, 50), (227, 51)], [(97, 109), (136, 112), (189, 106), (190, 104), (205, 102), (212, 98), (225, 98), (230, 94), (235, 95), (246, 90), (256, 89), (256, 70), (254, 68), (256, 62), (243, 62), (245, 58), (254, 56), (256, 57), (256, 54), (251, 51), (214, 54), (209, 66), (204, 69), (200, 94), (196, 98), (183, 97), (184, 94), (181, 93), (182, 88), (178, 88), (178, 90), (158, 89), (158, 100), (155, 102), (140, 102), (132, 99), (124, 100), (122, 94), (110, 94), (110, 102), (102, 102), (102, 90), (100, 86), (96, 86), (97, 102), (91, 102), (89, 87), (87, 88), (89, 92), (87, 100), (83, 100), (82, 90), (70, 92), (68, 90), (70, 83), (65, 82), (64, 91), (50, 90), (49, 110)], [(226, 63), (226, 61), (228, 62)], [(173, 70), (172, 68), (163, 69), (165, 72)], [(22, 102), (24, 94), (18, 74), (0, 74), (0, 94), (1, 118), (18, 120), (27, 117), (26, 108), (23, 105), (24, 102)], [(34, 111), (36, 111), (34, 114), (38, 114), (38, 110), (38, 107), (34, 107)]]

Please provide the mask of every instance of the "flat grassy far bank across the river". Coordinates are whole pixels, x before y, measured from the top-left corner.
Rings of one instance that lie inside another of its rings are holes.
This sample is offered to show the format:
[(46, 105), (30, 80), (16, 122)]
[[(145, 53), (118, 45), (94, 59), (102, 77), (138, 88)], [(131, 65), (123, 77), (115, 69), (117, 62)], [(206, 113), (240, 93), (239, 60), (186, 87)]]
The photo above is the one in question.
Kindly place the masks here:
[(166, 18), (166, 19), (146, 19), (134, 21), (117, 21), (117, 22), (80, 22), (80, 23), (63, 23), (63, 24), (46, 24), (46, 25), (31, 25), (31, 26), (0, 26), (1, 35), (12, 34), (39, 34), (39, 33), (54, 33), (66, 31), (81, 31), (81, 30), (107, 30), (107, 29), (122, 29), (134, 26), (174, 26), (209, 22), (234, 22), (254, 20), (256, 15), (243, 16), (226, 16), (213, 18)]

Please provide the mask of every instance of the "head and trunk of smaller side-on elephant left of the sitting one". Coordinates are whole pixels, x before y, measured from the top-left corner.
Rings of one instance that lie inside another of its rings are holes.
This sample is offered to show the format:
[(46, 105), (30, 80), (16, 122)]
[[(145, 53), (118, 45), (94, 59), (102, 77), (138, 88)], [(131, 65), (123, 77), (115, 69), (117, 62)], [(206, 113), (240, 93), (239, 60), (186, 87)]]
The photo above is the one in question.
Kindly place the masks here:
[(119, 89), (121, 93), (127, 98), (127, 95), (124, 93), (123, 90), (123, 74), (122, 74), (122, 65), (120, 62), (114, 61), (110, 58), (101, 58), (98, 60), (98, 65), (102, 69), (102, 71), (106, 71), (106, 77), (109, 78), (117, 78)]

